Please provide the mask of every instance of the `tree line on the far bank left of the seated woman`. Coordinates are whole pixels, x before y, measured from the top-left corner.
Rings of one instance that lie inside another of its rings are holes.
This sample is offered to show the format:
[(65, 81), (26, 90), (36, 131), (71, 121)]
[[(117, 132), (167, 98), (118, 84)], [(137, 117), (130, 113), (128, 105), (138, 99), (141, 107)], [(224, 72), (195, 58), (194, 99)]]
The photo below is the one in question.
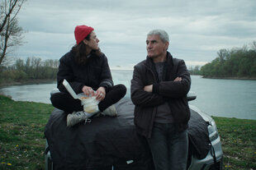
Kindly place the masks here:
[(27, 80), (56, 80), (59, 60), (40, 57), (27, 57), (26, 60), (17, 59), (12, 66), (0, 66), (0, 84)]

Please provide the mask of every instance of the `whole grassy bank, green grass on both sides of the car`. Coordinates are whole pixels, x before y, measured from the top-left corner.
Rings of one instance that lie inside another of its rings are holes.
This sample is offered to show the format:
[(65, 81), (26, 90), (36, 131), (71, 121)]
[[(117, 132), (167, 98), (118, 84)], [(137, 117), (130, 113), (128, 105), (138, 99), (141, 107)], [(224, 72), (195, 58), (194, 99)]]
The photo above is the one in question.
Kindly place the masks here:
[[(44, 169), (45, 124), (53, 107), (0, 95), (0, 170)], [(256, 169), (256, 121), (214, 117), (224, 151), (223, 169)]]

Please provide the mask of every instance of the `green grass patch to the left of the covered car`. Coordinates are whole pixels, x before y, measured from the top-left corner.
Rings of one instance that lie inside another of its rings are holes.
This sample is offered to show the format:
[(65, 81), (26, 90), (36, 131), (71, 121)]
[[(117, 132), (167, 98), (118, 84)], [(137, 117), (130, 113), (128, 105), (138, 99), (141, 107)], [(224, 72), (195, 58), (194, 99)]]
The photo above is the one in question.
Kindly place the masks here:
[(45, 169), (44, 131), (53, 109), (0, 95), (0, 170)]

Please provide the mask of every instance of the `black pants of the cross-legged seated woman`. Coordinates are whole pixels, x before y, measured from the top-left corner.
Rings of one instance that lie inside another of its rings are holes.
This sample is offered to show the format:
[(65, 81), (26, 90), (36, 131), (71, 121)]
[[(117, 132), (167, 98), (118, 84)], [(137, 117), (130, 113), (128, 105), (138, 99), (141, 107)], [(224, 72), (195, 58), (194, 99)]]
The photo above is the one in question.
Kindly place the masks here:
[[(125, 85), (114, 85), (106, 93), (105, 99), (99, 104), (98, 108), (102, 112), (112, 104), (118, 102), (126, 95)], [(59, 92), (52, 94), (50, 101), (55, 108), (64, 110), (66, 113), (73, 113), (73, 111), (82, 111), (83, 106), (81, 100), (73, 99), (69, 93)]]

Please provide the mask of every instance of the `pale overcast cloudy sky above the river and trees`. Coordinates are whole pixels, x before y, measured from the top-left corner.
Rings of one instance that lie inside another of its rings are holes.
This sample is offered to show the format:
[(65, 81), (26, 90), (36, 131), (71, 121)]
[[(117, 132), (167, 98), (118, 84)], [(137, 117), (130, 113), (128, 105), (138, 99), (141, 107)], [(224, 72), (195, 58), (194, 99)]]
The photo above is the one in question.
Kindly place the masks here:
[(16, 55), (59, 59), (75, 44), (75, 26), (90, 25), (111, 68), (144, 60), (146, 34), (153, 29), (168, 32), (173, 57), (203, 65), (221, 48), (256, 40), (255, 9), (255, 0), (31, 0), (18, 16), (27, 32)]

